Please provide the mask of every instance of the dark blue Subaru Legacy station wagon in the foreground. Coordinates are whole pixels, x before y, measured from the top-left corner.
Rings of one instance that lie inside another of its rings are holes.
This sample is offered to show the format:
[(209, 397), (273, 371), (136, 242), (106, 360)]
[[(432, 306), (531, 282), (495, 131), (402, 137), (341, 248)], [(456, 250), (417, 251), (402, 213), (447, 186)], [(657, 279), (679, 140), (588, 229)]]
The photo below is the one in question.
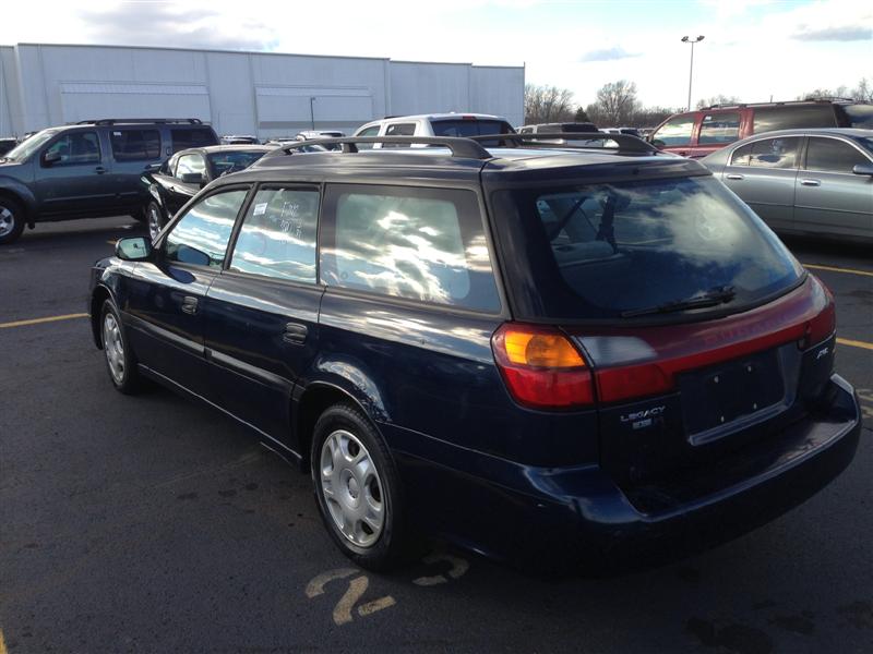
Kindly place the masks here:
[(582, 569), (748, 532), (854, 456), (833, 296), (703, 166), (611, 138), (278, 148), (94, 266), (109, 378), (250, 427), (372, 569), (422, 531)]

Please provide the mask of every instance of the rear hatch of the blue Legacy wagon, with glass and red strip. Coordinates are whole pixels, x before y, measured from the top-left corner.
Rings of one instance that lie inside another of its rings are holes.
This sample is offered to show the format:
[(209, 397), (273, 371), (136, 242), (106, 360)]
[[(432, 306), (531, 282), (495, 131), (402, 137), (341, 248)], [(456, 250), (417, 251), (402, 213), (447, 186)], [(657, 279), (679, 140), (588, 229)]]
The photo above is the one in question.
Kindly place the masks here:
[(491, 196), (515, 319), (575, 344), (591, 385), (577, 407), (597, 407), (623, 487), (802, 420), (833, 370), (826, 289), (710, 175), (646, 168)]

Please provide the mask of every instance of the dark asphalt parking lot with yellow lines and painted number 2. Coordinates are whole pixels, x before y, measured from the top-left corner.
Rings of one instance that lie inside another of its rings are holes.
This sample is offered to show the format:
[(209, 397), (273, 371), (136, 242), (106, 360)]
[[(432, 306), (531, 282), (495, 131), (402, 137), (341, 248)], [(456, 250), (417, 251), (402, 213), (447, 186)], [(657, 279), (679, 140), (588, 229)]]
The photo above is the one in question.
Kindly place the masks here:
[(715, 550), (546, 581), (440, 544), (392, 576), (349, 565), (309, 480), (216, 412), (116, 392), (83, 317), (129, 219), (0, 249), (0, 654), (873, 651), (873, 255), (789, 241), (834, 292), (859, 390), (853, 464)]

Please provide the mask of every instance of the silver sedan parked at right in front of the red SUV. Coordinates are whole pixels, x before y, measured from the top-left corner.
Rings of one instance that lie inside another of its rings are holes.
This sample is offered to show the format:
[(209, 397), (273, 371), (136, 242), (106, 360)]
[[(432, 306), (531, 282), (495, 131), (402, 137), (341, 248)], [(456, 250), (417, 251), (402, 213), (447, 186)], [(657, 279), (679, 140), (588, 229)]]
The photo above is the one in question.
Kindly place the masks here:
[(776, 231), (873, 241), (873, 130), (766, 132), (701, 162)]

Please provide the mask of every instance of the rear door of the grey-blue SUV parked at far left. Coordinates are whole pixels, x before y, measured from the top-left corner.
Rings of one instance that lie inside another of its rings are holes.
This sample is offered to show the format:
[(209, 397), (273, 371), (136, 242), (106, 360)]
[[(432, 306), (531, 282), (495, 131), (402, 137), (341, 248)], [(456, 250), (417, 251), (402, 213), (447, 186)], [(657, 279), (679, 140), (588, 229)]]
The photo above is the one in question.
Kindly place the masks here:
[(148, 201), (146, 185), (140, 178), (162, 161), (160, 131), (157, 128), (110, 128), (112, 183), (118, 202), (130, 210), (144, 208)]

